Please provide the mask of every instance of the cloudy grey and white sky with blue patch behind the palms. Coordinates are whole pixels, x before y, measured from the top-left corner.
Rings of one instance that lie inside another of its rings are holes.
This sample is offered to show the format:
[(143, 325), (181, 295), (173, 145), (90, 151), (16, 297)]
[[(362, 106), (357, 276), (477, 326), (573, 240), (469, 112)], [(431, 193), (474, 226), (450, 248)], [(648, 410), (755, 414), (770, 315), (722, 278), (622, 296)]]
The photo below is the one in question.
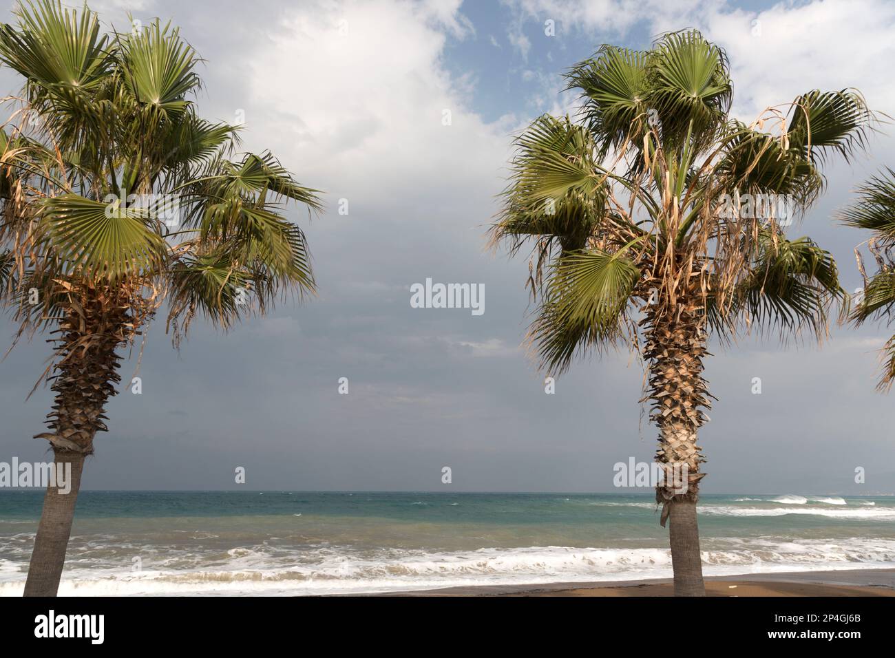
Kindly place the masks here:
[[(200, 114), (244, 115), (245, 148), (273, 150), (325, 191), (326, 210), (310, 223), (294, 214), (318, 298), (227, 335), (195, 325), (179, 354), (164, 322), (151, 327), (141, 395), (110, 402), (88, 489), (233, 488), (244, 466), (250, 489), (439, 491), (450, 466), (453, 491), (611, 491), (614, 463), (652, 458), (642, 366), (626, 353), (578, 363), (546, 395), (521, 346), (527, 260), (485, 249), (513, 134), (574, 107), (559, 73), (603, 43), (645, 48), (695, 26), (727, 50), (742, 118), (847, 87), (895, 116), (886, 0), (90, 5), (119, 29), (128, 12), (180, 25), (207, 60)], [(21, 81), (0, 69), (0, 85)], [(867, 235), (834, 217), (883, 164), (895, 166), (884, 133), (854, 165), (827, 170), (828, 192), (790, 229), (834, 253), (848, 289), (860, 285), (852, 250)], [(485, 312), (412, 308), (410, 286), (426, 278), (482, 284)], [(0, 320), (0, 334), (13, 325)], [(713, 349), (706, 376), (720, 401), (700, 441), (703, 491), (895, 491), (893, 398), (874, 391), (886, 335), (871, 325), (837, 329), (821, 349), (751, 338)], [(0, 461), (47, 458), (30, 437), (49, 391), (25, 399), (49, 354), (42, 338), (0, 363)]]

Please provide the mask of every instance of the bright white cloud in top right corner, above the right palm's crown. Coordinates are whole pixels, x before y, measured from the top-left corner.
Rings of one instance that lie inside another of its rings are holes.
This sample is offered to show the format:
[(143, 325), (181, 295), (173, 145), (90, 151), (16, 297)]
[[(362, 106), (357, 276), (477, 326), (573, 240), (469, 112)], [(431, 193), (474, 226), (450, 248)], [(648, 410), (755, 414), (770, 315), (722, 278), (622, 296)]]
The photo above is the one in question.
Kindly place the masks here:
[[(857, 87), (874, 109), (895, 113), (895, 3), (814, 0), (751, 12), (722, 0), (508, 0), (516, 21), (553, 17), (565, 30), (609, 40), (636, 24), (650, 34), (696, 27), (727, 50), (744, 119), (811, 89)], [(610, 35), (605, 34), (609, 31)]]

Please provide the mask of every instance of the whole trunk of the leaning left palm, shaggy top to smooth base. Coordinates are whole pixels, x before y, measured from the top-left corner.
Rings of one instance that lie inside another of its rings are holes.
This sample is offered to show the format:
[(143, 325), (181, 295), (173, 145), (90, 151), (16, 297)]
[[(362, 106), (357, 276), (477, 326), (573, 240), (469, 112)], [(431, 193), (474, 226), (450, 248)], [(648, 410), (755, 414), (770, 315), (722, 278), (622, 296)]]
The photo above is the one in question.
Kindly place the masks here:
[(35, 438), (49, 440), (56, 467), (71, 465), (72, 489), (47, 486), (44, 509), (25, 581), (26, 596), (55, 596), (65, 564), (65, 549), (72, 532), (74, 507), (81, 488), (84, 458), (93, 454), (97, 432), (107, 432), (103, 411), (106, 401), (117, 392), (115, 384), (120, 358), (115, 349), (129, 332), (128, 306), (123, 294), (114, 289), (86, 286), (78, 291), (60, 321), (60, 348), (55, 363), (54, 411), (47, 414), (47, 426)]

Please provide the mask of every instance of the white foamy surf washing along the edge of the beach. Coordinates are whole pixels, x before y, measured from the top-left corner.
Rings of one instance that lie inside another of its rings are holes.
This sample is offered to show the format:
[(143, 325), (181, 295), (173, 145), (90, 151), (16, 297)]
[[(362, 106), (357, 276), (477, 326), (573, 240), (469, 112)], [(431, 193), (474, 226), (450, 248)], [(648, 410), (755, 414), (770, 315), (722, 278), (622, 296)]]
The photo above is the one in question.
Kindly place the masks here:
[[(706, 575), (890, 567), (895, 540), (712, 539)], [(129, 564), (129, 563), (128, 563)], [(3, 565), (4, 567), (6, 565)], [(600, 582), (670, 577), (669, 551), (542, 546), (477, 551), (357, 552), (349, 547), (272, 553), (268, 546), (228, 551), (192, 568), (133, 572), (128, 565), (67, 565), (61, 595), (352, 594), (462, 585)], [(21, 595), (24, 574), (0, 568), (0, 595)]]

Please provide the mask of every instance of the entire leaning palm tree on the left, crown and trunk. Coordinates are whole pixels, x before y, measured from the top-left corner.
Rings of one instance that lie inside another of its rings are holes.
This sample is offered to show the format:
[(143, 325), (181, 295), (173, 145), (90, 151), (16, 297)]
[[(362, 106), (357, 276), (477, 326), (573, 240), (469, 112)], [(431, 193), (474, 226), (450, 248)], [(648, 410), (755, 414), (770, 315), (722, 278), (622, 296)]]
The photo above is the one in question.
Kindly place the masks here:
[[(0, 131), (0, 294), (19, 337), (51, 330), (48, 431), (71, 492), (47, 487), (25, 595), (55, 595), (84, 458), (133, 345), (164, 305), (174, 342), (199, 315), (224, 329), (277, 296), (312, 293), (294, 201), (319, 209), (276, 158), (237, 154), (237, 127), (196, 114), (200, 61), (158, 20), (105, 33), (54, 0), (0, 26), (24, 78)], [(38, 382), (39, 383), (39, 382)]]

